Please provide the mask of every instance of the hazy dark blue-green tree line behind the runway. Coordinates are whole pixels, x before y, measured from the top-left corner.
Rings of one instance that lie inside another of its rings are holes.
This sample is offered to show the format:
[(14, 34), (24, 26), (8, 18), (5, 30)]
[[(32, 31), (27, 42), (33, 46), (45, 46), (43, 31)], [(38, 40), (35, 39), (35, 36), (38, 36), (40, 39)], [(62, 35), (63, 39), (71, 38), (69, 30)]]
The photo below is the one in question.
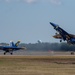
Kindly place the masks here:
[[(7, 43), (0, 43), (0, 45), (8, 46)], [(75, 51), (75, 45), (69, 45), (67, 43), (49, 43), (49, 42), (38, 42), (38, 43), (21, 43), (20, 47), (26, 47), (27, 50), (34, 51)]]

